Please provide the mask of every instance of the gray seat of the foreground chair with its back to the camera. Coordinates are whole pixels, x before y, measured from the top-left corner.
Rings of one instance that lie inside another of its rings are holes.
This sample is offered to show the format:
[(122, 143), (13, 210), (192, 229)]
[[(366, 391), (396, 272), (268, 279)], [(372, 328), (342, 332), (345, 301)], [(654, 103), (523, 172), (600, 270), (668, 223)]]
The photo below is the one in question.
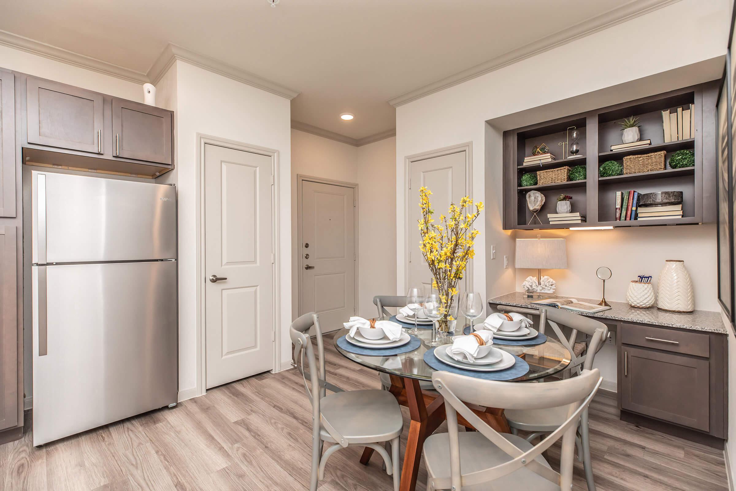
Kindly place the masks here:
[[(534, 446), (516, 435), (506, 433), (501, 435), (523, 451), (528, 451)], [(461, 432), (458, 437), (460, 442), (460, 470), (463, 474), (489, 469), (512, 460), (509, 454), (502, 451), (478, 431)], [(449, 455), (450, 439), (447, 433), (434, 434), (426, 439), (424, 443), (424, 462), (428, 475), (433, 478), (449, 478)], [(537, 456), (535, 460), (546, 467), (550, 467), (550, 464), (541, 455)], [(559, 484), (548, 481), (526, 467), (495, 479), (495, 481), (462, 487), (463, 491), (559, 491), (559, 489)]]

